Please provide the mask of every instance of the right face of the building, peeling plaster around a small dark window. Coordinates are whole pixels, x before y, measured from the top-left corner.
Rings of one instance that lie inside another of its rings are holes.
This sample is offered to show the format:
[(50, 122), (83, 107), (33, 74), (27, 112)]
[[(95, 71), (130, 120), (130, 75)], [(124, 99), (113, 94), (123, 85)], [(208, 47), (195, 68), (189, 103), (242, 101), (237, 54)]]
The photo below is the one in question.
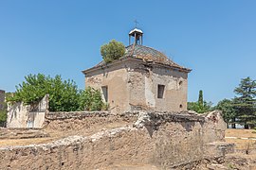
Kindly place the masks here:
[[(187, 110), (187, 73), (143, 62), (133, 62), (130, 68), (130, 104), (135, 109)], [(157, 98), (158, 84), (165, 86), (163, 98)]]

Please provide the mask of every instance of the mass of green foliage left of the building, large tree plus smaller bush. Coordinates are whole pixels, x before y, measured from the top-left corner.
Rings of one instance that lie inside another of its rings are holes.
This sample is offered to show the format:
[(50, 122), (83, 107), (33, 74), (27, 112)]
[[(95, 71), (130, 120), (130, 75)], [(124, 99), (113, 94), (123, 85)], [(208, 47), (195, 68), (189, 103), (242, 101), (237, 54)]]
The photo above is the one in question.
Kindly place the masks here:
[(32, 104), (46, 94), (49, 94), (49, 110), (52, 111), (101, 110), (102, 107), (99, 91), (91, 88), (81, 91), (73, 80), (43, 74), (25, 76), (25, 81), (16, 86), (16, 92), (8, 101)]

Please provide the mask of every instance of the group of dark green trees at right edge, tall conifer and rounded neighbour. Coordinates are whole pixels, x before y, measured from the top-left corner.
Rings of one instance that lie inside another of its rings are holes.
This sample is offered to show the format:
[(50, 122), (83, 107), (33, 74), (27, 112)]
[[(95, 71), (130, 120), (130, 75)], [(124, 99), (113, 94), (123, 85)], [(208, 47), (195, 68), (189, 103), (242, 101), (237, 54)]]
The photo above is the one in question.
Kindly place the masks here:
[(232, 99), (218, 102), (214, 108), (222, 110), (225, 122), (244, 125), (245, 128), (256, 126), (256, 81), (249, 76), (242, 78), (238, 87), (234, 89)]

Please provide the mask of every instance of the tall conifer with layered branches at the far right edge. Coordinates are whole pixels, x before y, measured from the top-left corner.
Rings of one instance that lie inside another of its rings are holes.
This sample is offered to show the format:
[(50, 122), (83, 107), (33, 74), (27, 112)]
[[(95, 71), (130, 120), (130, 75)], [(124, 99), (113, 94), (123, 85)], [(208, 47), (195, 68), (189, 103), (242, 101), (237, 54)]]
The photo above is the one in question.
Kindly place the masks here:
[(237, 121), (245, 128), (256, 125), (256, 81), (249, 76), (242, 78), (239, 86), (235, 88), (234, 109), (237, 112)]

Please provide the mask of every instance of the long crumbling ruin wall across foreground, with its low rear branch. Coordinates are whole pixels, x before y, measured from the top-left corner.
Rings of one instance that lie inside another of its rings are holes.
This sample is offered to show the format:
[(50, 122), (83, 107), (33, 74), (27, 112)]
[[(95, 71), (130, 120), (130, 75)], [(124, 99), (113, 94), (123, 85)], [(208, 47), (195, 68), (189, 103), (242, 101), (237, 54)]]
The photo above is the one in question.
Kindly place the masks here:
[(222, 157), (232, 151), (232, 145), (223, 142), (226, 125), (219, 112), (199, 116), (187, 111), (140, 111), (127, 115), (111, 115), (109, 112), (49, 113), (45, 126), (62, 121), (61, 126), (57, 126), (60, 129), (70, 127), (74, 120), (86, 122), (86, 119), (95, 120), (87, 122), (87, 126), (95, 127), (104, 122), (133, 123), (101, 129), (87, 136), (70, 136), (49, 144), (2, 147), (0, 169), (101, 169), (122, 164), (154, 164), (160, 168), (172, 168), (192, 161)]

